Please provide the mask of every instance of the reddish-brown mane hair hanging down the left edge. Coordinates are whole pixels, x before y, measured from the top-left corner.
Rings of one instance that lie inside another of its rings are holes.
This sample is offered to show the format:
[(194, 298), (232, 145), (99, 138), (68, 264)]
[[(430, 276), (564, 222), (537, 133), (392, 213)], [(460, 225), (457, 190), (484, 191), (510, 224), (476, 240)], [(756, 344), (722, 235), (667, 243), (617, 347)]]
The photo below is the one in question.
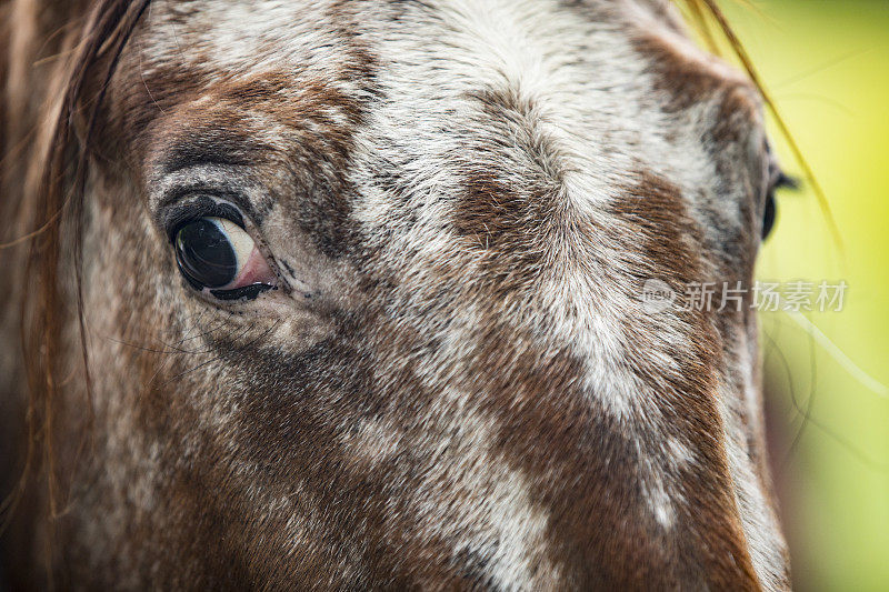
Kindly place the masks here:
[[(52, 442), (52, 422), (58, 412), (54, 404), (58, 389), (66, 380), (60, 343), (67, 314), (74, 314), (79, 320), (88, 392), (90, 385), (80, 288), (80, 228), (87, 162), (107, 83), (149, 0), (102, 0), (90, 10), (82, 28), (70, 27), (69, 23), (80, 22), (76, 11), (81, 3), (64, 2), (64, 8), (57, 8), (56, 17), (63, 20), (56, 30), (52, 27), (58, 23), (41, 30), (40, 26), (46, 23), (38, 19), (44, 18), (37, 14), (38, 9), (32, 14), (38, 22), (30, 23), (12, 22), (11, 4), (2, 7), (0, 12), (3, 32), (10, 33), (2, 36), (4, 43), (12, 44), (8, 39), (17, 27), (33, 28), (37, 33), (34, 39), (23, 40), (33, 53), (16, 54), (13, 48), (3, 47), (0, 70), (6, 91), (0, 102), (0, 130), (3, 132), (0, 187), (4, 197), (0, 203), (0, 241), (3, 259), (11, 263), (4, 265), (10, 278), (8, 293), (19, 299), (18, 319), (11, 312), (16, 310), (13, 305), (7, 307), (0, 319), (7, 327), (18, 324), (21, 333), (19, 355), (24, 375), (10, 377), (9, 387), (23, 379), (28, 391), (27, 402), (10, 401), (14, 392), (2, 392), (4, 397), (0, 400), (4, 411), (16, 405), (24, 408), (19, 410), (26, 411), (24, 428), (16, 422), (13, 433), (27, 431), (27, 438), (22, 439), (27, 449), (9, 461), (11, 464), (13, 459), (23, 456), (23, 466), (4, 466), (7, 474), (20, 476), (18, 481), (13, 476), (11, 483), (4, 483), (3, 492), (11, 491), (0, 505), (0, 533), (29, 488), (34, 488), (32, 494), (46, 498), (49, 516), (63, 513), (66, 495), (53, 461), (57, 451)], [(43, 10), (52, 11), (51, 8)], [(50, 52), (49, 58), (42, 56), (46, 51)], [(43, 61), (37, 63), (44, 64), (40, 69), (34, 66), (39, 58)], [(34, 80), (29, 80), (31, 76), (24, 80), (10, 78), (14, 72), (31, 74), (32, 69), (39, 74), (48, 73), (49, 80), (34, 84)], [(100, 72), (98, 78), (97, 71)], [(46, 90), (44, 96), (33, 96), (36, 86)], [(22, 99), (17, 101), (17, 97)], [(70, 271), (62, 269), (71, 263), (77, 300), (73, 312), (67, 305), (63, 288), (70, 283)], [(7, 387), (2, 384), (3, 389)], [(20, 419), (22, 414), (16, 417)], [(47, 488), (46, 494), (39, 493), (37, 483)]]

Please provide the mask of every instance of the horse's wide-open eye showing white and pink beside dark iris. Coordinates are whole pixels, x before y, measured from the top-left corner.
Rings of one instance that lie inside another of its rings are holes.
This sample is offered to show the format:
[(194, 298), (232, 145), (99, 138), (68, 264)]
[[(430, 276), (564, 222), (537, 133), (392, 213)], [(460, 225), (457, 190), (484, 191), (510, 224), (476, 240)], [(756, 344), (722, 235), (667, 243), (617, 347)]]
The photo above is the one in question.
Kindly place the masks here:
[(276, 287), (274, 273), (241, 227), (206, 217), (176, 232), (176, 262), (196, 290), (221, 300), (252, 299)]

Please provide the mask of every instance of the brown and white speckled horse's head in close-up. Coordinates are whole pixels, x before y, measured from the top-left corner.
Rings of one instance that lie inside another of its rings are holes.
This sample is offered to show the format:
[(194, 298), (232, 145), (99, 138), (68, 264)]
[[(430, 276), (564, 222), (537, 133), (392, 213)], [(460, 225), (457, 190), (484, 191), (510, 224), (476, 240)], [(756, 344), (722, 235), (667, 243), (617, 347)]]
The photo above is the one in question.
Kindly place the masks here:
[(0, 7), (10, 586), (789, 588), (756, 317), (682, 305), (776, 167), (675, 7)]

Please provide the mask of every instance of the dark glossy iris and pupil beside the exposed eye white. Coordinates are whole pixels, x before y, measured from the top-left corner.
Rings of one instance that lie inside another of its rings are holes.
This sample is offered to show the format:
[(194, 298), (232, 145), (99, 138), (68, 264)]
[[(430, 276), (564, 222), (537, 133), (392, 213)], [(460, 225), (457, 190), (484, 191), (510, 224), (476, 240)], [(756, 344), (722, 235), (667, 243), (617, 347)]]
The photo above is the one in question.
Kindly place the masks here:
[(176, 234), (176, 261), (198, 290), (221, 288), (238, 274), (234, 249), (224, 232), (206, 219), (189, 222)]

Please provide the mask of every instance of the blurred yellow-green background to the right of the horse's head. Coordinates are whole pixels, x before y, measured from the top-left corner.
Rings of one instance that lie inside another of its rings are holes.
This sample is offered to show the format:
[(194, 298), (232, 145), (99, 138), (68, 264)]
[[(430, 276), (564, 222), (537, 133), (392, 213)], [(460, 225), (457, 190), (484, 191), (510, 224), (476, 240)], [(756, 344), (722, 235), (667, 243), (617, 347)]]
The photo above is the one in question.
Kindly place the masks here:
[[(721, 6), (823, 187), (843, 244), (831, 240), (810, 188), (782, 192), (757, 275), (846, 280), (841, 312), (808, 317), (887, 384), (889, 1)], [(772, 138), (785, 168), (799, 173), (775, 126)], [(786, 313), (760, 318), (795, 588), (889, 591), (889, 399), (862, 385)]]

